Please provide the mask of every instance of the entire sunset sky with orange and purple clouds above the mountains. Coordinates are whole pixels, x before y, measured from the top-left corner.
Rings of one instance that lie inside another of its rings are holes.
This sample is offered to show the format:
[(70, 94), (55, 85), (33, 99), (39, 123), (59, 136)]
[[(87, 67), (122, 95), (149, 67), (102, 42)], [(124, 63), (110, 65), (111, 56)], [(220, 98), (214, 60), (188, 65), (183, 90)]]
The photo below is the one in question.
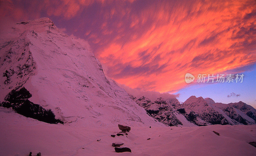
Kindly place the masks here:
[[(1, 27), (41, 17), (90, 45), (104, 73), (119, 84), (177, 94), (181, 102), (195, 95), (256, 107), (255, 0), (0, 0)], [(188, 84), (186, 73), (244, 78)], [(228, 97), (233, 92), (237, 96)]]

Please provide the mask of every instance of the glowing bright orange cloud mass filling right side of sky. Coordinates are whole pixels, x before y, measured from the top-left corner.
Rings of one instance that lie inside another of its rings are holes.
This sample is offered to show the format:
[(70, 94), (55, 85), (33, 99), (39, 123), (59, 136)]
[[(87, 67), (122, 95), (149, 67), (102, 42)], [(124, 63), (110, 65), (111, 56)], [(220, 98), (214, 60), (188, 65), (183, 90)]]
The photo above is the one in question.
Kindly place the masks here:
[(217, 74), (255, 64), (255, 1), (176, 5), (161, 2), (128, 15), (135, 17), (129, 27), (148, 26), (140, 35), (140, 29), (118, 32), (124, 37), (99, 48), (108, 76), (132, 88), (174, 92), (187, 85), (186, 73)]

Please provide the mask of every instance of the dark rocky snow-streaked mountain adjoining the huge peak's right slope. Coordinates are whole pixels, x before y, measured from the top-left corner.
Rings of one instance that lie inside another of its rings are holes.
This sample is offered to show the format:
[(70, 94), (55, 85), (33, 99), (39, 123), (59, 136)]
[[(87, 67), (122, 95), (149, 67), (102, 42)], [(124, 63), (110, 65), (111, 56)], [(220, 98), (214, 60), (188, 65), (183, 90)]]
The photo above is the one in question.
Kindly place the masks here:
[[(136, 103), (143, 107), (150, 116), (155, 118), (157, 121), (163, 122), (169, 126), (196, 126), (195, 124), (186, 120), (182, 112), (175, 110), (177, 101), (172, 100), (174, 103), (168, 103), (163, 98), (157, 98), (156, 101), (151, 102), (147, 97), (136, 98), (130, 96)], [(178, 101), (179, 102), (179, 101)]]

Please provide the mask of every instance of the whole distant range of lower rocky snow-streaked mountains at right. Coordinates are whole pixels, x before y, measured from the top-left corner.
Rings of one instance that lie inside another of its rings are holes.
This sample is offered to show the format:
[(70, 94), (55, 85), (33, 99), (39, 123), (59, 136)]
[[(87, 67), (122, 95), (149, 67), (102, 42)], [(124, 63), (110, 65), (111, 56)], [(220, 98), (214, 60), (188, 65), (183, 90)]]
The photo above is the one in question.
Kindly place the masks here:
[(256, 109), (239, 101), (238, 103), (215, 103), (211, 98), (189, 97), (184, 103), (176, 98), (157, 98), (152, 102), (147, 97), (130, 95), (150, 116), (169, 126), (206, 125), (252, 125), (256, 122)]

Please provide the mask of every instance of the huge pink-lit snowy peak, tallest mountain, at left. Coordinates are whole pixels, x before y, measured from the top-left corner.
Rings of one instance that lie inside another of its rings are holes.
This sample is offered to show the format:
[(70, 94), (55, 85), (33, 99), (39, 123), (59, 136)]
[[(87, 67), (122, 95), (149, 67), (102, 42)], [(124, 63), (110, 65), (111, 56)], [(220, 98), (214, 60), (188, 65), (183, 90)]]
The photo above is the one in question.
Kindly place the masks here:
[(93, 53), (50, 19), (17, 23), (8, 33), (0, 43), (1, 105), (73, 126), (164, 125), (106, 78)]

